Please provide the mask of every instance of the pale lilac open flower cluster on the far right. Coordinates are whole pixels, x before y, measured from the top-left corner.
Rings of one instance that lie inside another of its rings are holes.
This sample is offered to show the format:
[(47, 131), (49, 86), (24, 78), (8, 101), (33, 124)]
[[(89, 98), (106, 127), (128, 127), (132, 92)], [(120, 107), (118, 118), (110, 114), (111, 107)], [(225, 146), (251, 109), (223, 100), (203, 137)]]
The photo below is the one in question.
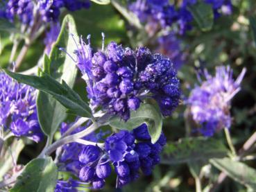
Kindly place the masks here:
[(232, 78), (230, 67), (217, 67), (215, 76), (204, 72), (206, 80), (191, 91), (187, 103), (200, 132), (205, 137), (211, 137), (218, 130), (230, 128), (230, 101), (241, 89), (246, 69), (243, 69), (237, 80)]

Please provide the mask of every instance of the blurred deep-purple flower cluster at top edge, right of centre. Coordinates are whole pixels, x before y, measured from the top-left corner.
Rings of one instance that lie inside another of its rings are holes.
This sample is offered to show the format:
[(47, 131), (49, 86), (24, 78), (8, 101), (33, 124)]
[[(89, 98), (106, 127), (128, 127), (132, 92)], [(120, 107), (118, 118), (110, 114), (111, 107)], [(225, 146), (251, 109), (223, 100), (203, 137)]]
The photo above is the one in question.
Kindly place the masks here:
[[(229, 15), (232, 12), (232, 4), (230, 0), (204, 0), (209, 3), (214, 10), (214, 17), (219, 17), (220, 14)], [(129, 9), (135, 12), (142, 22), (157, 23), (162, 28), (177, 24), (179, 26), (179, 33), (185, 34), (187, 30), (191, 29), (191, 21), (193, 16), (188, 10), (188, 6), (197, 3), (196, 0), (183, 0), (180, 5), (176, 6), (169, 3), (168, 0), (138, 0), (130, 4)]]

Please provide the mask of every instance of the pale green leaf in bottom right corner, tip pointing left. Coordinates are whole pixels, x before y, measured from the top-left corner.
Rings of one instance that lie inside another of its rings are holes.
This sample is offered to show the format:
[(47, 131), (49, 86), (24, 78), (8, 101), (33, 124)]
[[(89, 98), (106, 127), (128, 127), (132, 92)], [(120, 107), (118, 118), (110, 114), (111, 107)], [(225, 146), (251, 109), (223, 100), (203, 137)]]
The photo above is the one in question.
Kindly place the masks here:
[(220, 171), (223, 171), (233, 180), (244, 184), (248, 188), (256, 190), (256, 171), (244, 163), (236, 162), (229, 158), (211, 159), (210, 163), (213, 164)]

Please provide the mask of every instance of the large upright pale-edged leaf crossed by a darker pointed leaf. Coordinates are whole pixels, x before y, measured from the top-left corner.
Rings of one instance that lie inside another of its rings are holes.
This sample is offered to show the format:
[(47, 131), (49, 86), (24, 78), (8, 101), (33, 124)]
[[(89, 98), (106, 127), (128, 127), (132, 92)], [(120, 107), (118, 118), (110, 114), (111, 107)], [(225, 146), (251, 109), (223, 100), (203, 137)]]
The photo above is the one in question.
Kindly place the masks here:
[[(60, 34), (53, 45), (50, 57), (44, 55), (44, 72), (49, 73), (58, 82), (65, 80), (67, 85), (72, 88), (76, 80), (76, 64), (67, 54), (63, 54), (58, 49), (59, 47), (67, 47), (68, 53), (72, 53), (76, 49), (76, 43), (70, 34), (76, 40), (78, 39), (75, 21), (71, 15), (67, 15), (62, 22)], [(37, 116), (44, 134), (52, 137), (58, 130), (60, 123), (65, 121), (67, 113), (65, 107), (56, 101), (53, 96), (39, 91), (37, 94)]]

